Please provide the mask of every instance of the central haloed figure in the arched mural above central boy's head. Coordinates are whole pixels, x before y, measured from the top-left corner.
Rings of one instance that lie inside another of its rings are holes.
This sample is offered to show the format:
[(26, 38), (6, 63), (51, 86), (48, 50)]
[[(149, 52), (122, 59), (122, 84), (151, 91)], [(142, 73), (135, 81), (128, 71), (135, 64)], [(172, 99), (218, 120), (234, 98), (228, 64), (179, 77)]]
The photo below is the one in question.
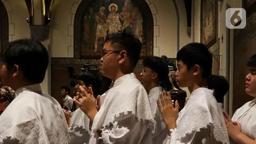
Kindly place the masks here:
[(118, 6), (112, 3), (108, 6), (109, 14), (107, 19), (108, 24), (108, 34), (117, 33), (118, 30), (122, 30), (122, 25), (119, 20), (119, 13), (116, 13)]

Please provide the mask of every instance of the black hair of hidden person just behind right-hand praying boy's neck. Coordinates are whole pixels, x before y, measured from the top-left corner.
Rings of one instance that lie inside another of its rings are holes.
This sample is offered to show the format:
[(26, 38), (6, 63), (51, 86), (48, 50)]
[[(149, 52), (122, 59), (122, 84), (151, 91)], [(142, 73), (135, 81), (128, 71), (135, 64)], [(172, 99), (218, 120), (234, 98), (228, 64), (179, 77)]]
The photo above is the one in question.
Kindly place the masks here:
[(224, 95), (229, 90), (229, 83), (224, 76), (210, 75), (207, 79), (207, 87), (208, 89), (214, 90), (214, 97), (217, 102), (223, 103)]

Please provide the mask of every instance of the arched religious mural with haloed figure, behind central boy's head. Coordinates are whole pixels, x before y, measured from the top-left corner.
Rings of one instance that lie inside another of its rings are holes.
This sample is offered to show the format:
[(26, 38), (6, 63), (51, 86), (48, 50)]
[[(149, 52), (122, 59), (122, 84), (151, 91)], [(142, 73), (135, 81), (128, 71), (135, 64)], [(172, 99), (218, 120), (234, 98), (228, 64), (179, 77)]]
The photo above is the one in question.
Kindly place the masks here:
[[(153, 52), (147, 52), (153, 47), (153, 38), (148, 40), (150, 31), (148, 34), (143, 32), (148, 24), (144, 22), (146, 18), (142, 17), (139, 7), (136, 1), (131, 0), (96, 0), (87, 4), (82, 13), (82, 28), (79, 31), (80, 58), (100, 58), (106, 36), (123, 30), (141, 41), (141, 56), (153, 55)], [(153, 35), (153, 29), (151, 33)]]

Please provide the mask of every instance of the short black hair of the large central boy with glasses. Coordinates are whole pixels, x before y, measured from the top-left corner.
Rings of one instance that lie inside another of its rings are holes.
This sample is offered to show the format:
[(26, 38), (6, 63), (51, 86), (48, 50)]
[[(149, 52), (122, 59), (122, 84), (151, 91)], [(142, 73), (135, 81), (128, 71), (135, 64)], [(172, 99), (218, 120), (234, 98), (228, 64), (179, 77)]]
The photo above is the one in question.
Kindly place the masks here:
[(118, 44), (119, 50), (125, 50), (127, 57), (131, 62), (131, 68), (134, 69), (140, 58), (141, 42), (131, 33), (127, 33), (126, 30), (119, 33), (109, 34), (105, 43), (110, 42), (111, 44)]

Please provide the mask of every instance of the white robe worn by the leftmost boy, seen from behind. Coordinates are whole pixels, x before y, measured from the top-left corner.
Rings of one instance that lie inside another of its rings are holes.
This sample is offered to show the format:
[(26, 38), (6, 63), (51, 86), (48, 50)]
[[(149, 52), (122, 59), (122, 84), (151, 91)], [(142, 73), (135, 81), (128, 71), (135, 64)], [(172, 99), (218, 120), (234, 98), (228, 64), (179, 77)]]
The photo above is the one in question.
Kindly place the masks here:
[(69, 143), (61, 106), (39, 84), (20, 87), (0, 116), (0, 143)]

